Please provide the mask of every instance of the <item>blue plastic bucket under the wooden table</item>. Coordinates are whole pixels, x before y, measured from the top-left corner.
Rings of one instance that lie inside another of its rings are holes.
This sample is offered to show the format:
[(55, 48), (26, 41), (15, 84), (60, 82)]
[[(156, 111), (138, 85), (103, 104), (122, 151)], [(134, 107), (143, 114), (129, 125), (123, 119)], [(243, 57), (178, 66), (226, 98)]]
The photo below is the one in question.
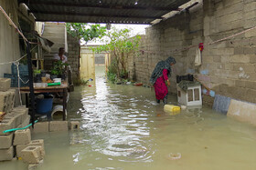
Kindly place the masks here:
[(37, 114), (46, 115), (49, 112), (51, 112), (53, 98), (42, 98), (42, 99), (37, 98), (36, 102), (37, 102), (37, 107), (36, 107)]

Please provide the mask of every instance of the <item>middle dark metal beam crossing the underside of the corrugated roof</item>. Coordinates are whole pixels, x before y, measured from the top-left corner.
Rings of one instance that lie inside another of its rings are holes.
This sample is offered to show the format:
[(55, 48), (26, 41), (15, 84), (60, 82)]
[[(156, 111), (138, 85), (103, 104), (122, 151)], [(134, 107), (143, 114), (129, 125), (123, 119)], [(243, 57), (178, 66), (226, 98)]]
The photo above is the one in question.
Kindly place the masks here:
[(70, 12), (40, 12), (30, 10), (29, 13), (34, 15), (77, 15), (77, 16), (89, 16), (89, 17), (114, 17), (114, 18), (136, 18), (136, 19), (163, 19), (163, 17), (156, 16), (133, 16), (133, 15), (88, 15), (82, 13), (70, 13)]

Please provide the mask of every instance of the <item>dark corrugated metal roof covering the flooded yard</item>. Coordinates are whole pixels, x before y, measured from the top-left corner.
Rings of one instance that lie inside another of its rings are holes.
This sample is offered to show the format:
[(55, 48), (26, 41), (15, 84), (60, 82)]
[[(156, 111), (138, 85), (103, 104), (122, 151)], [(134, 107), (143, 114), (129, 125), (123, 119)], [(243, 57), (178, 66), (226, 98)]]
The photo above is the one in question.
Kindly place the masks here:
[(150, 24), (189, 0), (17, 0), (37, 21)]

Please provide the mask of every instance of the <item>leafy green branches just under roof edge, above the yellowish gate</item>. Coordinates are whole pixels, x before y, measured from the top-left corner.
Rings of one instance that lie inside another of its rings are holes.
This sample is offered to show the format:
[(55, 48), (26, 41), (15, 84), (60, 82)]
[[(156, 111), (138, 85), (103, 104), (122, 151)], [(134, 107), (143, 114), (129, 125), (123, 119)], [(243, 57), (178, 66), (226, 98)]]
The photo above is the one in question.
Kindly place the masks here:
[(84, 23), (67, 23), (67, 31), (73, 37), (78, 37), (87, 44), (94, 38), (105, 35), (106, 27), (101, 25), (88, 25)]

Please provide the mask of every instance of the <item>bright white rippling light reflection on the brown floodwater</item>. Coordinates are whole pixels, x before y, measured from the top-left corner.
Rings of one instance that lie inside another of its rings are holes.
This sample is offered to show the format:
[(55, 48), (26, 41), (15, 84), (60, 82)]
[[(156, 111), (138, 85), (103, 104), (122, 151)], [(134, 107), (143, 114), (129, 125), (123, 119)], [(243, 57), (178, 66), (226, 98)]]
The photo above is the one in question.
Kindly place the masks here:
[(144, 127), (148, 115), (136, 107), (138, 100), (112, 90), (103, 77), (96, 80), (94, 88), (85, 87), (82, 93), (82, 129), (89, 136), (91, 149), (103, 155), (123, 156), (123, 161), (148, 161), (150, 144), (144, 143), (144, 137), (150, 135), (150, 128)]

